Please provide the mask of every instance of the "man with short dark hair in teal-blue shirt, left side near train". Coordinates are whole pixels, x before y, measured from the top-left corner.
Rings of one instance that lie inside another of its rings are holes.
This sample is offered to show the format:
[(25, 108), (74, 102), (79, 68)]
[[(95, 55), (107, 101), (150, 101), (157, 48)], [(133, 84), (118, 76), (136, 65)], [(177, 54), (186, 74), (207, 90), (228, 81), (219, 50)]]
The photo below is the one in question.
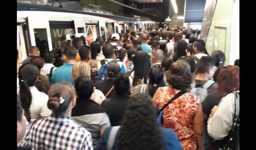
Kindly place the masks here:
[(63, 60), (64, 65), (58, 67), (52, 73), (52, 82), (51, 85), (65, 81), (69, 82), (71, 85), (74, 85), (74, 79), (71, 76), (72, 67), (76, 62), (76, 48), (74, 46), (67, 46), (63, 51)]

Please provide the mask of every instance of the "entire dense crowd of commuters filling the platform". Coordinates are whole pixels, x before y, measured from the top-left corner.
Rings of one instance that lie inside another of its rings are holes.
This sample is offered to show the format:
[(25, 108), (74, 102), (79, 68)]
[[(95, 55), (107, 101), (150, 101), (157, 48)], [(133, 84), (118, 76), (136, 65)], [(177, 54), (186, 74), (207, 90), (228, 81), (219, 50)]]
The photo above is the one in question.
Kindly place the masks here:
[(17, 50), (17, 149), (239, 149), (239, 59), (177, 26), (90, 36)]

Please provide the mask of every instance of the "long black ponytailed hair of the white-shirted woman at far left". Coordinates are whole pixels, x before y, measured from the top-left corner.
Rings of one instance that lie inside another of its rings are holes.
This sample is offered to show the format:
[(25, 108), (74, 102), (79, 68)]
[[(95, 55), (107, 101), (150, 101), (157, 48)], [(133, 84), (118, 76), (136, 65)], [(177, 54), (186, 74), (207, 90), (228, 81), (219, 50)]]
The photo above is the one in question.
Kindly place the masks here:
[(31, 62), (25, 63), (19, 68), (20, 100), (28, 122), (30, 122), (29, 109), (32, 103), (32, 95), (29, 87), (35, 85), (38, 76), (39, 69)]

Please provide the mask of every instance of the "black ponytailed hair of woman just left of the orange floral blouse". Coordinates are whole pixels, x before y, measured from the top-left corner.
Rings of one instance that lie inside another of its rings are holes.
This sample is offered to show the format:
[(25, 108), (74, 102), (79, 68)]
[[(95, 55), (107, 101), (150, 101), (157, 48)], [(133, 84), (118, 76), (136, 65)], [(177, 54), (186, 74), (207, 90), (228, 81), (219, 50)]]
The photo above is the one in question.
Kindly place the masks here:
[(159, 87), (164, 87), (165, 83), (164, 83), (164, 71), (161, 67), (155, 65), (152, 66), (148, 75), (148, 91), (149, 94), (151, 96), (151, 98), (153, 98), (153, 96), (155, 95), (156, 90)]

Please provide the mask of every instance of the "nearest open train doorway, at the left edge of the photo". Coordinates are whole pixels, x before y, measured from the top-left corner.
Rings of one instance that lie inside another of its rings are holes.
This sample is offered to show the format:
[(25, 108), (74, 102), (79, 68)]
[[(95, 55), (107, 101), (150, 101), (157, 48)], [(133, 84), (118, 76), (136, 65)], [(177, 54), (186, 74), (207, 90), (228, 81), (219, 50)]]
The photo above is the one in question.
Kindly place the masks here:
[[(20, 27), (22, 29), (22, 37), (20, 34)], [(20, 39), (22, 38), (22, 39)], [(22, 49), (22, 43), (24, 41), (25, 51)], [(28, 26), (28, 17), (26, 18), (17, 18), (17, 49), (19, 61), (22, 62), (28, 56), (28, 49), (31, 46), (29, 26)]]

